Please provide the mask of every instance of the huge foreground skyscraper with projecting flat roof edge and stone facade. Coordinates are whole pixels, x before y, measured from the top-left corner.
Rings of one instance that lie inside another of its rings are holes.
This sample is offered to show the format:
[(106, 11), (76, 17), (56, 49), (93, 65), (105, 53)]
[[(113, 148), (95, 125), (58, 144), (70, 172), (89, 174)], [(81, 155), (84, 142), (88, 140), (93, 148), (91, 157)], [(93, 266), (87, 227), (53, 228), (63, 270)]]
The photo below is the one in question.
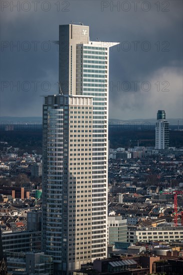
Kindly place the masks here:
[(54, 274), (107, 256), (108, 55), (89, 27), (59, 26), (59, 86), (43, 104), (42, 249)]

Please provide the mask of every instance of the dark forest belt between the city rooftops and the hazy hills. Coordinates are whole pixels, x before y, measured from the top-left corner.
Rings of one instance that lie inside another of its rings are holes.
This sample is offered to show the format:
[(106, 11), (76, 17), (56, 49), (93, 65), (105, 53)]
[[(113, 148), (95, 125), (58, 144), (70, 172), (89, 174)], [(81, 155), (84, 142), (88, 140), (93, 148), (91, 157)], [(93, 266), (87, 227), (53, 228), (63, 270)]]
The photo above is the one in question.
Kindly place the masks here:
[[(171, 125), (171, 128), (177, 126)], [(140, 146), (155, 146), (155, 129), (152, 126), (150, 129), (145, 130), (141, 127), (109, 127), (108, 139), (110, 140), (110, 148), (118, 147), (133, 147), (139, 144)], [(6, 141), (7, 146), (19, 147), (20, 153), (36, 150), (37, 153), (42, 152), (42, 129), (41, 125), (34, 126), (27, 123), (15, 125), (14, 130), (5, 131), (4, 127), (0, 127), (0, 142)], [(169, 132), (169, 146), (183, 147), (183, 131)], [(4, 147), (4, 144), (0, 143), (0, 149)]]

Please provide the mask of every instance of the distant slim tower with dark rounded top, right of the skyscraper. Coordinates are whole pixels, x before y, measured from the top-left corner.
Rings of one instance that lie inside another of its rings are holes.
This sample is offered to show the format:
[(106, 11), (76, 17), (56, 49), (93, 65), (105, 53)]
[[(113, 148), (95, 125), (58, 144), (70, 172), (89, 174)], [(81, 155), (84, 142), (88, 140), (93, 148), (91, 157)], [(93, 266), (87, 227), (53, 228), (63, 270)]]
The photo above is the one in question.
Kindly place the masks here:
[(157, 111), (155, 123), (155, 148), (168, 149), (169, 146), (169, 122), (165, 120), (165, 111)]

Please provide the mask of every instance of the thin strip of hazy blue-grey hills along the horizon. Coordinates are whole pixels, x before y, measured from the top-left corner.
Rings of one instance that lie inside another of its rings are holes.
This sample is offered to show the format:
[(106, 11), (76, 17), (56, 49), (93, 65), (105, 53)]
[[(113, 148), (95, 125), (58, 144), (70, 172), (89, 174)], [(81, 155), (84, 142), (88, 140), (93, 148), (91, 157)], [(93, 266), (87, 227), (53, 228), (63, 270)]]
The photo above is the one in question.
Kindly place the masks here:
[[(169, 121), (170, 125), (177, 125), (179, 120), (179, 126), (182, 128), (183, 124), (183, 119), (182, 118), (167, 118), (167, 121)], [(13, 123), (13, 124), (18, 124), (18, 123), (32, 123), (32, 124), (41, 124), (42, 123), (42, 117), (41, 116), (25, 116), (25, 117), (20, 117), (20, 116), (1, 116), (0, 117), (0, 123), (5, 124), (5, 123)], [(149, 122), (151, 125), (155, 125), (156, 119), (154, 118), (134, 118), (134, 119), (115, 119), (115, 118), (109, 118), (109, 124), (119, 124), (119, 123), (125, 123), (128, 122), (130, 124), (141, 124), (142, 122)]]

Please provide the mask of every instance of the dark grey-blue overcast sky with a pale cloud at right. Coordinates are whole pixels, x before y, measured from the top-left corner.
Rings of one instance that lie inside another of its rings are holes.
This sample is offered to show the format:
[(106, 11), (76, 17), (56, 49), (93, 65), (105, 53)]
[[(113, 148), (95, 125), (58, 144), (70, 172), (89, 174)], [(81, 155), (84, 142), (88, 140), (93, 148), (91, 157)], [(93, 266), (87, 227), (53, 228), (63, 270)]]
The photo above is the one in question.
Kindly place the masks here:
[(89, 25), (90, 40), (120, 42), (110, 50), (109, 118), (153, 118), (158, 109), (182, 118), (181, 0), (4, 0), (0, 15), (1, 116), (41, 115), (41, 95), (57, 91), (49, 40), (73, 20)]

